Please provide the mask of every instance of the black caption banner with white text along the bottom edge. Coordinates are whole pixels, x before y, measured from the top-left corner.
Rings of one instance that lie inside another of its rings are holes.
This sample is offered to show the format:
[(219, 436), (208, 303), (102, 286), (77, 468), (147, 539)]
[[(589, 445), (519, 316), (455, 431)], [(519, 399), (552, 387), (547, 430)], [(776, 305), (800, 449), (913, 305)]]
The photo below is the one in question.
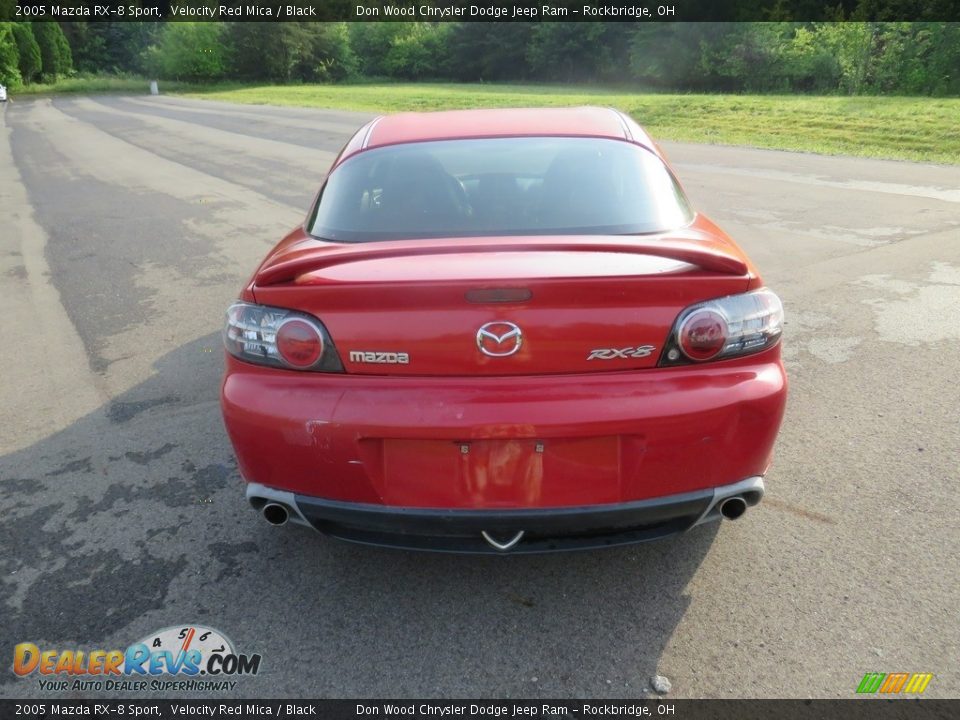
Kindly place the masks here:
[(0, 700), (0, 718), (669, 718), (886, 720), (960, 717), (960, 700)]

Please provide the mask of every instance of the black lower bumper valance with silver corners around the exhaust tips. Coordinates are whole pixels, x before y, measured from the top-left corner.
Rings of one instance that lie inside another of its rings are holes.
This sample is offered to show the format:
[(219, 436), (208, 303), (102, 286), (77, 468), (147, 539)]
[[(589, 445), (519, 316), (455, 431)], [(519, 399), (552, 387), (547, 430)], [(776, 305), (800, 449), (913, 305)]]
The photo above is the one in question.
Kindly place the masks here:
[(630, 545), (718, 520), (720, 505), (760, 502), (763, 479), (616, 505), (524, 510), (440, 510), (344, 503), (250, 483), (254, 509), (280, 505), (291, 522), (384, 547), (474, 554), (543, 553)]

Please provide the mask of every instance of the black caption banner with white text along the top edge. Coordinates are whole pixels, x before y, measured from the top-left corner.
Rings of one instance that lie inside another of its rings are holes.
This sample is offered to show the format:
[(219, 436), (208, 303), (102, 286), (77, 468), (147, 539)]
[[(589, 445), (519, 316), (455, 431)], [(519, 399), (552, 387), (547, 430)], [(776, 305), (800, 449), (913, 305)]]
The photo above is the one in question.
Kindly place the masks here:
[(960, 21), (960, 0), (0, 0), (14, 21)]

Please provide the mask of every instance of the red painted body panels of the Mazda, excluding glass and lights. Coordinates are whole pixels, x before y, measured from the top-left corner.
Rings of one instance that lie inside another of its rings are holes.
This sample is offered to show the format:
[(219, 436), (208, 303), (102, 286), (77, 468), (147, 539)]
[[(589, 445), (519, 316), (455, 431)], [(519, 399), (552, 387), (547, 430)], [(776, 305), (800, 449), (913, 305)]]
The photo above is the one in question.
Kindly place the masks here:
[[(659, 153), (608, 110), (474, 111), (375, 121), (336, 162), (365, 146), (524, 134), (619, 137)], [(227, 356), (225, 423), (246, 480), (334, 500), (562, 507), (733, 483), (770, 463), (786, 401), (779, 345), (656, 365), (685, 307), (761, 286), (742, 250), (702, 215), (636, 238), (337, 245), (298, 229), (241, 297), (315, 315), (346, 372)], [(529, 293), (468, 299), (505, 288)], [(522, 328), (515, 355), (477, 349), (477, 330), (494, 321)], [(587, 359), (595, 348), (646, 344), (655, 346), (646, 357)], [(410, 362), (352, 362), (351, 350), (403, 352)]]

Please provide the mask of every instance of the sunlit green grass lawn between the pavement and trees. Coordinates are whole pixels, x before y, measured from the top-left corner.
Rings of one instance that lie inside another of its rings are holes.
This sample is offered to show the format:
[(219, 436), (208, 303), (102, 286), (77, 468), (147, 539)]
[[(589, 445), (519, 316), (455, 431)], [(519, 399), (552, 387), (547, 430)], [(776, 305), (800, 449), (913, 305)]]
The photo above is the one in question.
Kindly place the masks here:
[[(170, 83), (161, 91), (176, 92)], [(658, 140), (960, 164), (960, 98), (669, 95), (569, 85), (294, 85), (185, 89), (229, 102), (370, 112), (604, 105)]]

